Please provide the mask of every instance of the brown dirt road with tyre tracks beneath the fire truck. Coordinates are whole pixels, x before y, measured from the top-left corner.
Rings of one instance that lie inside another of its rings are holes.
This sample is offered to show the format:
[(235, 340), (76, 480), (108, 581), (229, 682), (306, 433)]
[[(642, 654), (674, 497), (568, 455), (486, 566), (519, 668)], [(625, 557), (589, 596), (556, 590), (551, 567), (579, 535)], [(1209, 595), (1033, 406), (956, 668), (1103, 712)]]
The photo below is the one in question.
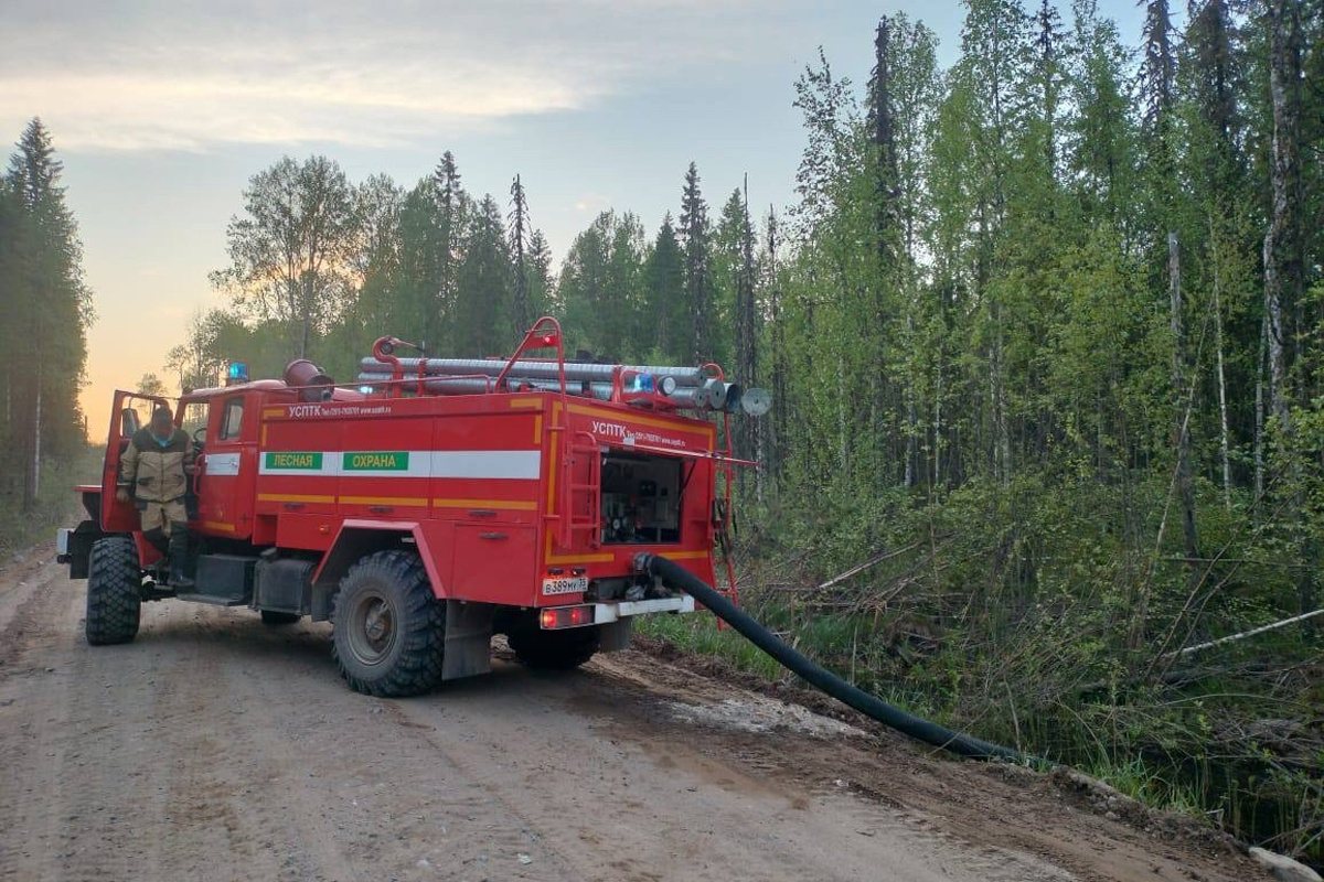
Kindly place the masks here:
[[(0, 879), (1262, 878), (1029, 772), (932, 758), (643, 653), (351, 693), (326, 625), (0, 574)], [(1014, 771), (1014, 770), (1013, 770)]]

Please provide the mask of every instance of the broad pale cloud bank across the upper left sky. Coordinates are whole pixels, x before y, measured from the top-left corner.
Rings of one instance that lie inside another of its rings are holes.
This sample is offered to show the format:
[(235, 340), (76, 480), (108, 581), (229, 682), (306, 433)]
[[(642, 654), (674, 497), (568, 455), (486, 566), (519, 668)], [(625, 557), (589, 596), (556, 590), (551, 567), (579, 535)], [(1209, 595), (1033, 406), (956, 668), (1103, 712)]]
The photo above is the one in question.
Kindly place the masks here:
[(702, 77), (780, 28), (769, 9), (752, 0), (11, 0), (0, 126), (19, 131), (41, 115), (62, 149), (408, 144)]

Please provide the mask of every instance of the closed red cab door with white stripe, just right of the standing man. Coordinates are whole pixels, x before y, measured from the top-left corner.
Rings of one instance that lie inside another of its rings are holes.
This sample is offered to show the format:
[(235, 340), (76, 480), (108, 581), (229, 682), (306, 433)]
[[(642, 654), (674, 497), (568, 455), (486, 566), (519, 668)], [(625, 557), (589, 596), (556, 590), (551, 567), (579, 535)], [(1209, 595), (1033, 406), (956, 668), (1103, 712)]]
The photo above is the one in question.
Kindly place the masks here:
[[(252, 440), (257, 409), (236, 393), (208, 402), (207, 443), (199, 456), (197, 529), (228, 538), (253, 533), (253, 481), (257, 472)], [(252, 413), (249, 413), (252, 411)]]

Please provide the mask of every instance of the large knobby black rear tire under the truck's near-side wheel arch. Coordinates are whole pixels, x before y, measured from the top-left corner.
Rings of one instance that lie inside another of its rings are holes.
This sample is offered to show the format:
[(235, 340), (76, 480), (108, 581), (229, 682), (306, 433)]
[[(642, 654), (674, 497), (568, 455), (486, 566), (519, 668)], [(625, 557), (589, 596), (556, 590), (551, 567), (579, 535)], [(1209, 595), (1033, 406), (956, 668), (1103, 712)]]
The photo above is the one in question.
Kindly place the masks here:
[(331, 649), (340, 673), (368, 696), (402, 697), (441, 682), (446, 604), (412, 551), (377, 551), (344, 579), (331, 611)]

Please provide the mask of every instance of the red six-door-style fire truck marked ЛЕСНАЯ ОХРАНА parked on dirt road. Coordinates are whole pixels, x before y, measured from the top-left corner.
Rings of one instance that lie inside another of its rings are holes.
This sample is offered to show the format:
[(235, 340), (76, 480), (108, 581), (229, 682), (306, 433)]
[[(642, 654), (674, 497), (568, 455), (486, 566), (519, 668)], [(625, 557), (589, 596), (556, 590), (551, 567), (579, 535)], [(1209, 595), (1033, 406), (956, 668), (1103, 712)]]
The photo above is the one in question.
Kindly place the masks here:
[(115, 499), (140, 414), (171, 405), (117, 391), (101, 485), (78, 488), (89, 517), (58, 537), (87, 579), (87, 641), (132, 640), (152, 600), (307, 616), (332, 623), (352, 688), (406, 696), (487, 672), (494, 633), (524, 664), (572, 668), (624, 648), (633, 616), (694, 610), (634, 558), (715, 581), (739, 461), (719, 438), (763, 393), (714, 365), (567, 362), (552, 319), (508, 360), (399, 357), (409, 345), (380, 339), (352, 387), (295, 361), (172, 406), (177, 424), (205, 414), (180, 591)]

